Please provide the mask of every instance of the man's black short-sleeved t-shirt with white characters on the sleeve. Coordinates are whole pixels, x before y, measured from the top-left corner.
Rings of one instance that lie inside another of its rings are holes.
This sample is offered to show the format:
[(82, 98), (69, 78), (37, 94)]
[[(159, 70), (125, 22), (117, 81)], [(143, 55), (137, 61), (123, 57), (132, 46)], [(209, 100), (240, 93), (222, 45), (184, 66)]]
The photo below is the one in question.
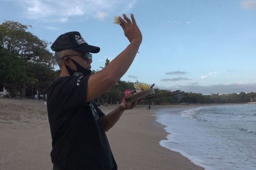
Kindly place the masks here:
[(88, 79), (60, 77), (48, 89), (52, 162), (67, 170), (116, 170), (100, 121), (104, 113), (94, 102), (86, 103)]

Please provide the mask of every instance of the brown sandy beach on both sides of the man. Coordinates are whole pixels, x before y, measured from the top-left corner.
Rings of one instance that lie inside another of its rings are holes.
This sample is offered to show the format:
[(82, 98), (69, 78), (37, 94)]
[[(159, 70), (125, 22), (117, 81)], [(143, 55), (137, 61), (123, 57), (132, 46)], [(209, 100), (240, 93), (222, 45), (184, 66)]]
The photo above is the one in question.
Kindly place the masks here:
[[(109, 113), (117, 105), (100, 106)], [(164, 106), (162, 106), (164, 107)], [(167, 106), (166, 106), (167, 107)], [(172, 107), (172, 106), (168, 106)], [(167, 133), (152, 116), (161, 106), (125, 111), (106, 134), (120, 170), (203, 169), (159, 145)], [(0, 169), (49, 170), (51, 134), (44, 101), (0, 99)]]

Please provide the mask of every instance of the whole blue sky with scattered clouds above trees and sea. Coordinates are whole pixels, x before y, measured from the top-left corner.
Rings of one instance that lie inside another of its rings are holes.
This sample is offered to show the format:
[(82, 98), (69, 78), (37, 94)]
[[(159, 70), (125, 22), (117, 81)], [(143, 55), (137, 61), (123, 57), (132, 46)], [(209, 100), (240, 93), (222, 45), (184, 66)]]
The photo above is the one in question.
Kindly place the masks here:
[[(99, 46), (100, 70), (128, 44), (114, 16), (133, 13), (143, 35), (122, 80), (211, 93), (256, 92), (256, 0), (0, 0), (0, 21), (53, 42), (79, 31)], [(50, 50), (51, 51), (51, 50)]]

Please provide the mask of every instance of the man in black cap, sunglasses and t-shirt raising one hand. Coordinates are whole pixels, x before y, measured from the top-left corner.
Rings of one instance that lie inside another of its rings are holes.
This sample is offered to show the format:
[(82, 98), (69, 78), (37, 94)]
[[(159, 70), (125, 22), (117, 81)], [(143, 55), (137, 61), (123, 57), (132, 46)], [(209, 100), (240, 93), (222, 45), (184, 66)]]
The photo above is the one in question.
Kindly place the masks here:
[(125, 14), (123, 17), (118, 20), (130, 44), (93, 75), (90, 75), (90, 53), (98, 53), (100, 48), (88, 45), (79, 32), (62, 34), (51, 46), (61, 70), (60, 77), (47, 93), (54, 170), (117, 169), (105, 132), (137, 102), (123, 102), (104, 115), (93, 100), (112, 88), (125, 74), (142, 42), (134, 16), (131, 14), (131, 20)]

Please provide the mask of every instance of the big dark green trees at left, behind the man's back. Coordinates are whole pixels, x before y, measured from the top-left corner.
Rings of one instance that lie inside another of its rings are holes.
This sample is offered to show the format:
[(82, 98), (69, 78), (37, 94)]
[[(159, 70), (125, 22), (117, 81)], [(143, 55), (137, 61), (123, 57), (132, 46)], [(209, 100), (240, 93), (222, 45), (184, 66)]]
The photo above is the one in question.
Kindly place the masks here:
[(0, 24), (0, 83), (11, 97), (46, 94), (57, 77), (53, 54), (41, 40), (28, 29), (31, 26), (5, 21)]

